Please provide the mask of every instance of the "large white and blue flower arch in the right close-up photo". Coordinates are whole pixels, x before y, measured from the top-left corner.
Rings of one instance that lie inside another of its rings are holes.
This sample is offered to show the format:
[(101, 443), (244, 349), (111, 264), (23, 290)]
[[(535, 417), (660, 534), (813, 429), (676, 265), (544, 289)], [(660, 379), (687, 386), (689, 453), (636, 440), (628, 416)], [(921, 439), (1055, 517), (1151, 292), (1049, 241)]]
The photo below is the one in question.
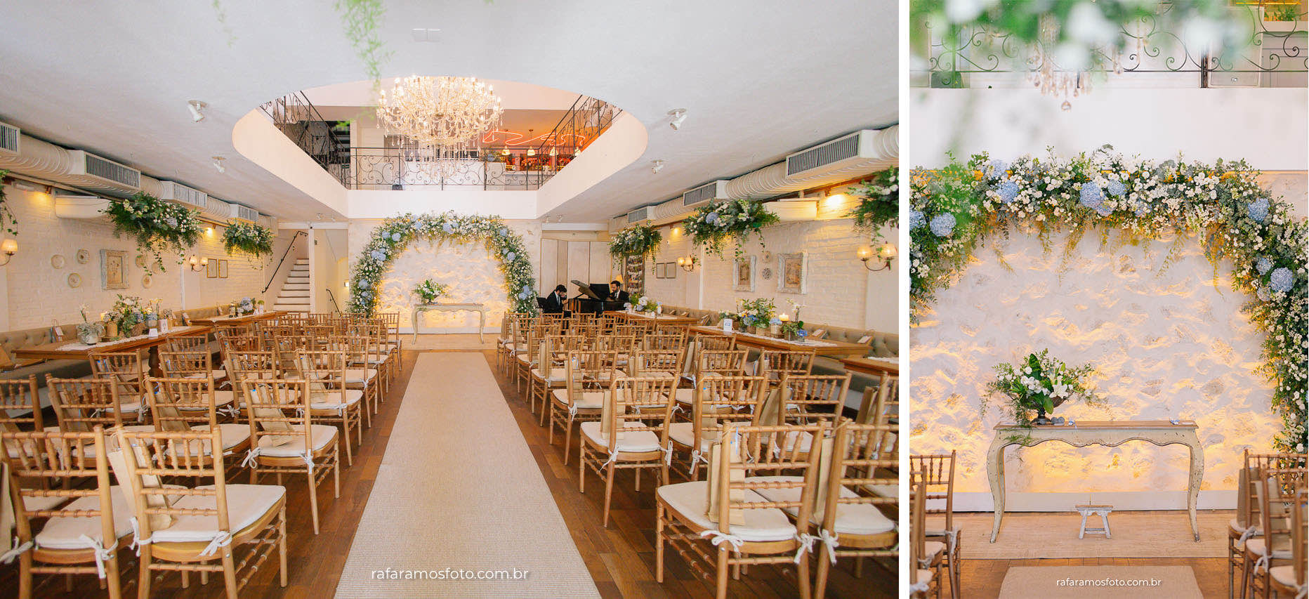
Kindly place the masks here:
[[(1051, 234), (1069, 231), (1062, 268), (1093, 228), (1100, 228), (1101, 248), (1107, 251), (1175, 234), (1164, 268), (1181, 255), (1187, 234), (1198, 235), (1215, 281), (1219, 262), (1230, 260), (1233, 288), (1253, 296), (1244, 311), (1266, 334), (1261, 371), (1275, 383), (1272, 408), (1283, 425), (1274, 442), (1283, 451), (1305, 451), (1309, 221), (1296, 220), (1285, 200), (1261, 188), (1258, 173), (1244, 161), (1155, 162), (1110, 149), (1072, 160), (1022, 157), (1013, 163), (975, 154), (944, 169), (915, 169), (910, 182), (914, 319), (996, 234), (1031, 231), (1050, 251)], [(1118, 239), (1110, 239), (1113, 231)]]

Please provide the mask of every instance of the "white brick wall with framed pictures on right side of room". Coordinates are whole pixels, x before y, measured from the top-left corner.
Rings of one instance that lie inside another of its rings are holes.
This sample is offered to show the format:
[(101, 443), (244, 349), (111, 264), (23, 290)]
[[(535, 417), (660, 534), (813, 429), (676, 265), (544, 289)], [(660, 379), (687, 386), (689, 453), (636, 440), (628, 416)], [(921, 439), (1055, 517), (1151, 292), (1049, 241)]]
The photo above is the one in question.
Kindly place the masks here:
[[(829, 205), (827, 213), (842, 213), (848, 205)], [(821, 214), (822, 216), (822, 214)], [(675, 306), (707, 310), (730, 310), (737, 300), (771, 297), (778, 310), (793, 314), (787, 300), (801, 303), (801, 319), (836, 327), (869, 328), (885, 332), (899, 331), (897, 272), (899, 259), (890, 269), (869, 272), (856, 256), (868, 238), (853, 228), (848, 218), (784, 222), (763, 229), (763, 245), (757, 238), (746, 242), (746, 256), (755, 256), (755, 290), (737, 292), (733, 279), (733, 252), (730, 246), (724, 258), (704, 255), (691, 247), (689, 235), (673, 234), (677, 225), (662, 228), (664, 246), (656, 263), (677, 262), (678, 256), (695, 255), (700, 264), (687, 273), (674, 265), (673, 279), (656, 279), (653, 265), (647, 263), (645, 292), (654, 300)], [(885, 229), (888, 241), (895, 242), (897, 230)], [(805, 294), (778, 290), (780, 277), (778, 256), (788, 252), (808, 252), (808, 285)], [(771, 260), (764, 260), (764, 252)], [(771, 268), (772, 276), (763, 277)]]

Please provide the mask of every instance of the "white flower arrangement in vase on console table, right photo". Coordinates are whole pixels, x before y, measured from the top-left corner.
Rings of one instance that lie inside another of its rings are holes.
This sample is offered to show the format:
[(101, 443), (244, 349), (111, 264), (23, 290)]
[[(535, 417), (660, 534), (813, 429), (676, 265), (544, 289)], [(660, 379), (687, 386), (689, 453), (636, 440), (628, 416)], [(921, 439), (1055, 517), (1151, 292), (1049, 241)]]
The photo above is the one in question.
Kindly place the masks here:
[[(1046, 417), (1064, 402), (1080, 396), (1088, 405), (1103, 405), (1103, 398), (1090, 387), (1093, 366), (1068, 366), (1062, 360), (1050, 357), (1049, 349), (1029, 353), (1021, 362), (995, 365), (995, 381), (987, 383), (987, 396), (982, 399), (986, 411), (987, 399), (995, 395), (1009, 398), (1013, 419), (1020, 426), (1062, 424)], [(1037, 419), (1031, 420), (1031, 411)], [(1063, 419), (1059, 419), (1060, 421)]]

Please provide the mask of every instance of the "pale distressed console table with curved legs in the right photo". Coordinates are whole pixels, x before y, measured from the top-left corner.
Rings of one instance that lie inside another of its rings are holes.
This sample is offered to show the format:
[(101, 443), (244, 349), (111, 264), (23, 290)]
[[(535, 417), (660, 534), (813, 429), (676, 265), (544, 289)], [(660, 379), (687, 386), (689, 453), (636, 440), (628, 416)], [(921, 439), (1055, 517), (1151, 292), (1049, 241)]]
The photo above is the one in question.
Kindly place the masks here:
[(1191, 535), (1200, 540), (1200, 530), (1195, 523), (1195, 498), (1200, 494), (1200, 480), (1204, 477), (1204, 447), (1200, 446), (1194, 420), (1097, 420), (1081, 421), (1073, 425), (1042, 425), (1021, 428), (1014, 424), (995, 426), (995, 438), (987, 450), (986, 471), (991, 483), (991, 498), (995, 500), (995, 526), (991, 528), (991, 543), (1000, 534), (1000, 519), (1004, 518), (1004, 449), (1011, 445), (1031, 447), (1046, 441), (1063, 441), (1073, 447), (1103, 445), (1115, 447), (1128, 441), (1148, 441), (1160, 447), (1165, 445), (1185, 445), (1191, 451), (1191, 480), (1186, 485), (1186, 511), (1191, 517)]

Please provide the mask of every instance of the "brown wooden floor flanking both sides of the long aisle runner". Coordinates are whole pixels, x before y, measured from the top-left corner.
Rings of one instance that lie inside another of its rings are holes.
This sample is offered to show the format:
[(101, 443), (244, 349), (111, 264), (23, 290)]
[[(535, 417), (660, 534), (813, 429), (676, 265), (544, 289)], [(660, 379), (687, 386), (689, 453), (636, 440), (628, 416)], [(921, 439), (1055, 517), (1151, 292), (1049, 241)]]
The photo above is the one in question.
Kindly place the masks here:
[[(492, 353), (484, 352), (484, 356), (495, 370)], [(416, 357), (418, 352), (403, 352), (402, 374), (398, 381), (391, 383), (386, 395), (387, 400), (381, 404), (381, 412), (373, 416), (373, 428), (364, 430), (364, 445), (355, 450), (355, 464), (342, 468), (340, 498), (332, 498), (330, 481), (318, 488), (319, 526), (322, 530), (319, 535), (314, 536), (313, 534), (305, 484), (287, 480), (288, 585), (285, 589), (278, 586), (276, 561), (270, 560), (264, 562), (264, 569), (242, 590), (242, 598), (319, 599), (334, 595), (340, 570), (350, 555), (355, 528), (359, 526), (359, 518), (368, 502), (368, 496), (373, 490), (373, 481), (381, 466), (382, 454), (386, 451), (386, 442)], [(662, 585), (654, 582), (654, 494), (649, 487), (651, 481), (647, 480), (647, 485), (643, 485), (643, 490), (637, 493), (632, 490), (631, 475), (619, 476), (614, 488), (610, 526), (603, 528), (600, 522), (603, 485), (596, 484), (597, 479), (592, 477), (588, 481), (592, 483), (588, 485), (592, 490), (585, 494), (577, 492), (576, 460), (571, 460), (568, 467), (563, 466), (562, 441), (556, 439), (555, 446), (547, 445), (547, 430), (537, 425), (537, 417), (530, 413), (526, 404), (517, 399), (513, 383), (499, 377), (499, 373), (496, 374), (500, 388), (522, 429), (524, 438), (537, 458), (601, 595), (606, 598), (712, 596), (711, 585), (695, 578), (681, 557), (672, 551), (668, 555), (665, 582)], [(576, 445), (573, 449), (576, 451)], [(271, 477), (264, 480), (264, 483), (270, 481)], [(234, 483), (246, 483), (246, 476), (242, 475)], [(531, 549), (524, 548), (524, 551)], [(128, 551), (119, 553), (120, 560), (130, 556)], [(135, 596), (135, 564), (124, 566), (123, 572), (124, 578), (132, 581), (124, 589), (124, 596)], [(843, 562), (838, 570), (833, 572), (830, 581), (827, 596), (836, 598), (894, 596), (897, 587), (894, 564), (891, 562), (869, 561), (864, 568), (863, 578), (855, 578)], [(38, 598), (86, 599), (106, 596), (105, 591), (98, 589), (97, 579), (90, 575), (73, 577), (71, 591), (64, 589), (63, 577), (38, 577), (37, 583), (39, 585), (35, 594)], [(995, 586), (999, 589), (999, 578)], [(17, 562), (7, 566), (0, 565), (0, 598), (14, 596), (17, 587)], [(177, 575), (166, 575), (153, 583), (153, 596), (223, 596), (221, 582), (212, 578), (208, 585), (200, 586), (192, 577), (190, 589), (182, 589)], [(757, 566), (750, 570), (749, 575), (744, 575), (742, 581), (733, 581), (729, 592), (732, 596), (798, 596), (795, 569)]]

